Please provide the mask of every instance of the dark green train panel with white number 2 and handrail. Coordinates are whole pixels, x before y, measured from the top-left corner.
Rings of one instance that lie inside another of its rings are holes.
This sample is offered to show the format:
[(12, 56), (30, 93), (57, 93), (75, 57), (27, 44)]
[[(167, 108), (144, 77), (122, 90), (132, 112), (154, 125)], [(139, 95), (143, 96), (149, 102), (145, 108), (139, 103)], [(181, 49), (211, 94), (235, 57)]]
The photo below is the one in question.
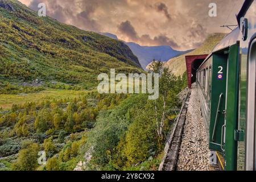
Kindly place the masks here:
[(225, 107), (228, 55), (213, 53), (212, 90), (210, 93), (209, 147), (217, 156), (218, 166), (225, 169)]

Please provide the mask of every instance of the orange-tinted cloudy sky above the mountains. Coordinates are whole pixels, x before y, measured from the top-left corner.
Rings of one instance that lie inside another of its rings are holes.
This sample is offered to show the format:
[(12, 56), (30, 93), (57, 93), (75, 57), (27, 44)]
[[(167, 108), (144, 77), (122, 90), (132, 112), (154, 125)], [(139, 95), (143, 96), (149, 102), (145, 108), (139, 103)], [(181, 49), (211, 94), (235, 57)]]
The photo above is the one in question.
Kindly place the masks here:
[[(142, 46), (196, 48), (213, 32), (230, 32), (243, 0), (19, 0), (33, 10), (84, 30), (110, 32)], [(216, 3), (217, 17), (209, 16)]]

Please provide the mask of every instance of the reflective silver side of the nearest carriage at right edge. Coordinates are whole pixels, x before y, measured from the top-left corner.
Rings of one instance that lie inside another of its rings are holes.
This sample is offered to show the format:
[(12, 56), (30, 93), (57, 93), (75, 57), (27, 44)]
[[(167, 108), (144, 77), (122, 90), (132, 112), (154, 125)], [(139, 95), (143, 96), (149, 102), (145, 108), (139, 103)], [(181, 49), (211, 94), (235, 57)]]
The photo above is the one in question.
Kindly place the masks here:
[[(255, 59), (256, 1), (245, 1), (238, 14), (240, 23), (240, 98), (238, 130), (245, 131), (245, 140), (238, 142), (238, 169), (256, 169), (255, 135)], [(249, 56), (249, 57), (248, 57)]]

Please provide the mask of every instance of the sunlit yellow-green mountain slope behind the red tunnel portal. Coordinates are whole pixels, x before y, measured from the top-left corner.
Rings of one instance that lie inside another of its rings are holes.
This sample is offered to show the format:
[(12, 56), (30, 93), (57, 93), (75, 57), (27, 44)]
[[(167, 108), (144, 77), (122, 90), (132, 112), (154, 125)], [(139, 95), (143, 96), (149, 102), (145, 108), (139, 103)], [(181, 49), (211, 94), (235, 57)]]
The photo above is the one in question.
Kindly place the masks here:
[(192, 52), (186, 53), (185, 55), (168, 60), (164, 64), (164, 67), (169, 68), (176, 76), (183, 75), (183, 73), (186, 71), (185, 56), (209, 54), (225, 35), (226, 34), (222, 33), (211, 34), (199, 48)]

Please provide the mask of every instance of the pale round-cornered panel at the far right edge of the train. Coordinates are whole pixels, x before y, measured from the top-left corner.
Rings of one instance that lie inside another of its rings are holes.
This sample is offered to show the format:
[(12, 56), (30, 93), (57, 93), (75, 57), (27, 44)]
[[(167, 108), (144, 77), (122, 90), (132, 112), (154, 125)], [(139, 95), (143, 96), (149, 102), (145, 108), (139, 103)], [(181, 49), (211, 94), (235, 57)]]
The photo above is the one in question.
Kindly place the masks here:
[[(255, 134), (255, 82), (256, 82), (256, 39), (251, 42), (247, 68), (247, 111), (246, 111), (246, 170), (256, 169)], [(250, 108), (250, 109), (248, 109)]]

